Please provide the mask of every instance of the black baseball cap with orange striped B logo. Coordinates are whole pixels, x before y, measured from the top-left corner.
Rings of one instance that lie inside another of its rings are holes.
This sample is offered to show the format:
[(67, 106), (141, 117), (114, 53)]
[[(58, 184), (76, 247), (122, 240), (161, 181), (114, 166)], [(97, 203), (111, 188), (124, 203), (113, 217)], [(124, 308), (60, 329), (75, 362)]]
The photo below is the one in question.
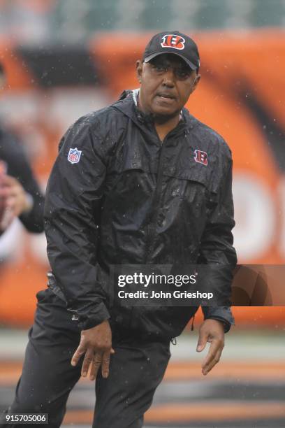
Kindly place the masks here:
[(200, 55), (196, 43), (180, 31), (163, 31), (155, 34), (147, 44), (142, 59), (144, 62), (149, 62), (163, 53), (178, 55), (192, 70), (200, 67)]

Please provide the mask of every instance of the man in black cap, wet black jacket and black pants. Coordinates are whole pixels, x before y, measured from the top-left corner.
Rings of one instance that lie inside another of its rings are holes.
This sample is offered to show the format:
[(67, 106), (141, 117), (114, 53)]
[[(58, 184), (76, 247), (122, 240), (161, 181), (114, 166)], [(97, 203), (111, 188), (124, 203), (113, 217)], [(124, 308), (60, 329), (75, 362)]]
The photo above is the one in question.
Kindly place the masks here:
[[(231, 153), (183, 108), (199, 66), (191, 38), (156, 34), (136, 64), (140, 89), (80, 118), (61, 139), (45, 205), (50, 287), (38, 293), (10, 413), (49, 413), (50, 427), (59, 427), (69, 392), (89, 374), (93, 427), (142, 427), (170, 340), (198, 308), (119, 305), (112, 265), (226, 265), (215, 280), (231, 293)], [(211, 343), (205, 375), (233, 318), (224, 306), (203, 311), (197, 350)]]

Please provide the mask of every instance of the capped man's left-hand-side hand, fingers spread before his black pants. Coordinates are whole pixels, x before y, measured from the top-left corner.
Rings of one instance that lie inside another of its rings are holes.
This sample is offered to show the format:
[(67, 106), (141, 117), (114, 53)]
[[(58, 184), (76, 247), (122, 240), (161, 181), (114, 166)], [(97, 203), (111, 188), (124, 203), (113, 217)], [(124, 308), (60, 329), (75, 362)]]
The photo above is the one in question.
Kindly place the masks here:
[(75, 350), (71, 359), (71, 365), (76, 366), (82, 355), (85, 354), (81, 375), (94, 380), (101, 366), (103, 378), (109, 376), (110, 354), (114, 354), (112, 349), (112, 331), (108, 321), (103, 321), (92, 329), (82, 330), (80, 344)]

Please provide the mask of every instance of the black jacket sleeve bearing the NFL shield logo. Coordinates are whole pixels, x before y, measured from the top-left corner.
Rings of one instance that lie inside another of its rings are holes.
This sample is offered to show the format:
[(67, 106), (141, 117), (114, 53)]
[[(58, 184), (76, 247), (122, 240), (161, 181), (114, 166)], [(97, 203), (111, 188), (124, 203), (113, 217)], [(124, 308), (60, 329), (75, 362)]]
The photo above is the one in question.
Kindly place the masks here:
[[(59, 145), (45, 199), (47, 256), (67, 306), (79, 315), (82, 329), (110, 318), (105, 293), (96, 281), (105, 181), (102, 142), (86, 119), (68, 129)], [(78, 150), (77, 159), (68, 160), (70, 149)]]

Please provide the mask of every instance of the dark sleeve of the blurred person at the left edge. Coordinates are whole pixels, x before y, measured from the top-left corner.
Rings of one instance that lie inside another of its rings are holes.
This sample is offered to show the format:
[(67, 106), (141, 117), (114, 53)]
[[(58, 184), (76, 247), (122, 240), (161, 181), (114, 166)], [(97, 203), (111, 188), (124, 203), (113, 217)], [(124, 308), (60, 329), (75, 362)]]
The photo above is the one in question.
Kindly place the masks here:
[[(33, 207), (20, 215), (24, 227), (34, 233), (43, 232), (44, 197), (27, 156), (17, 138), (0, 124), (0, 161), (5, 162), (9, 176), (17, 178), (24, 190), (33, 198)], [(1, 234), (1, 231), (0, 231)]]

